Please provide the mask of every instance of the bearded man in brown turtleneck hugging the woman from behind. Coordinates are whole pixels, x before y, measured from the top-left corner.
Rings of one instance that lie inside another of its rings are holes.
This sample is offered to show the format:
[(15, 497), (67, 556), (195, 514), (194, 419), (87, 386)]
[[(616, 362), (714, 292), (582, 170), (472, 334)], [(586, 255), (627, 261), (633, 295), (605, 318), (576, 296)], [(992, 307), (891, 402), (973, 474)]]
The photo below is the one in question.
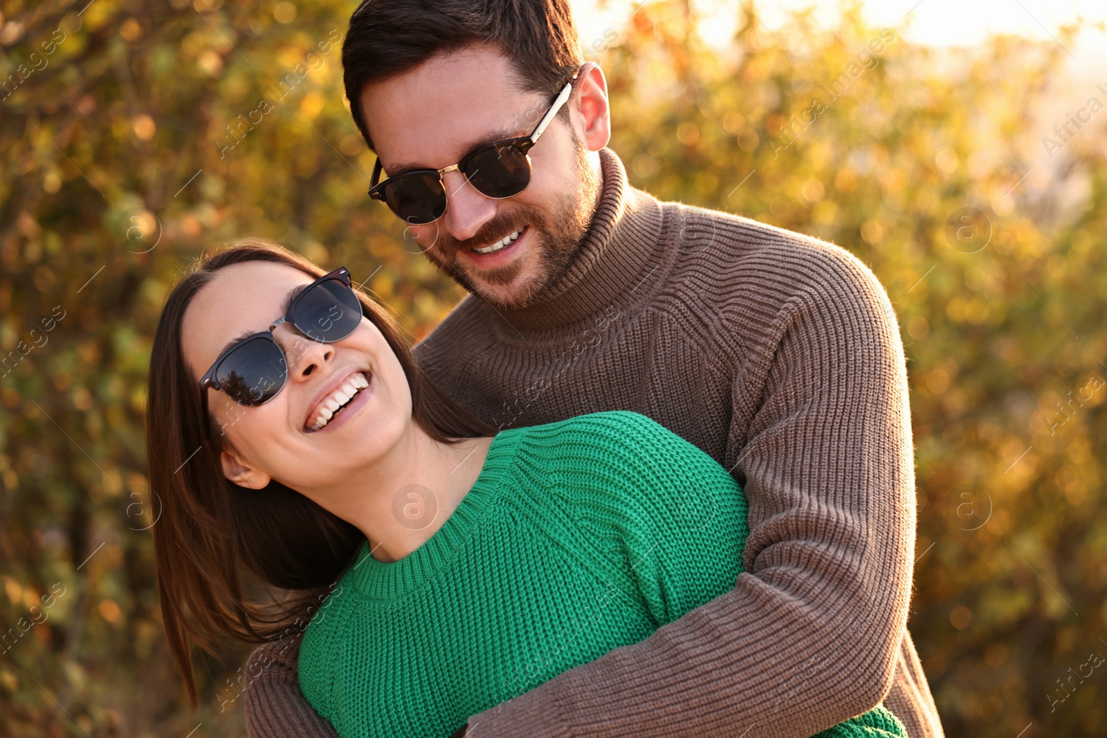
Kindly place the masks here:
[[(730, 469), (749, 505), (731, 592), (472, 716), (467, 735), (798, 738), (883, 701), (912, 738), (941, 736), (906, 628), (907, 376), (872, 272), (631, 188), (565, 0), (371, 0), (342, 54), (387, 175), (374, 197), (472, 292), (416, 347), (432, 377), (499, 427), (643, 413)], [(559, 101), (537, 143), (480, 148), (530, 136)], [(298, 642), (284, 646), (251, 657), (251, 735), (334, 735), (299, 692)]]

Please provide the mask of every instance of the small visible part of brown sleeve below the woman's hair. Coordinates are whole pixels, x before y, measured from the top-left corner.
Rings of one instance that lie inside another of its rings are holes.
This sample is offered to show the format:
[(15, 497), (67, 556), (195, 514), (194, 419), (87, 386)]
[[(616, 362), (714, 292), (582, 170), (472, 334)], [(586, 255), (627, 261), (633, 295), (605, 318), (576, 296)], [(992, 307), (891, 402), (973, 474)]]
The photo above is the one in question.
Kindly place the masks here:
[(302, 633), (287, 644), (258, 646), (247, 663), (246, 730), (250, 738), (338, 738), (300, 692), (297, 662)]

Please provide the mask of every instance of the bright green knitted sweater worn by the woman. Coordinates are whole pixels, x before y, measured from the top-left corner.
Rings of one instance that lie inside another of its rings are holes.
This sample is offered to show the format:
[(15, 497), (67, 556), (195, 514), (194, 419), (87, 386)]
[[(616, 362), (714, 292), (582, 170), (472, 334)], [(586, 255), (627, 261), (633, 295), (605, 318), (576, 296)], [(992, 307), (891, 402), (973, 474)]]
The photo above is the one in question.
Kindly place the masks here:
[[(426, 543), (382, 563), (366, 541), (308, 625), (300, 688), (340, 736), (446, 738), (732, 589), (747, 533), (733, 477), (643, 415), (504, 430)], [(906, 735), (878, 707), (819, 738)]]

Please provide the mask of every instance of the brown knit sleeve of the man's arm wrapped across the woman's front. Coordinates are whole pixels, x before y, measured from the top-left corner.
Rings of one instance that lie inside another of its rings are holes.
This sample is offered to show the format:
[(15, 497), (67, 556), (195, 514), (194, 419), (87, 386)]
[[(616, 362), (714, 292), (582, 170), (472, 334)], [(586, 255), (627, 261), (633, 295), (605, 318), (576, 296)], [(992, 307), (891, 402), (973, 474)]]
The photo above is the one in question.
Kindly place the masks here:
[(804, 738), (883, 699), (915, 522), (907, 373), (876, 277), (821, 253), (793, 300), (757, 306), (776, 335), (734, 377), (748, 422), (726, 466), (749, 505), (734, 589), (473, 716), (474, 736)]

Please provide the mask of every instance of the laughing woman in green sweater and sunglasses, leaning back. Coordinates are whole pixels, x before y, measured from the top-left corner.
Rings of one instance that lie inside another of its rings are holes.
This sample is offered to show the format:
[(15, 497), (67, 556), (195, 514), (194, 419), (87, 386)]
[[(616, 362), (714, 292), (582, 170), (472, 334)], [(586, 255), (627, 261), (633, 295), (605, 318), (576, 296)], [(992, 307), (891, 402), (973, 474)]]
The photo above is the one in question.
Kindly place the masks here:
[[(745, 499), (706, 454), (625, 412), (496, 434), (344, 269), (263, 241), (174, 288), (147, 424), (163, 619), (194, 707), (189, 638), (310, 617), (301, 688), (340, 735), (448, 736), (742, 571)], [(293, 593), (266, 606), (258, 584)], [(819, 735), (904, 732), (878, 708)]]

